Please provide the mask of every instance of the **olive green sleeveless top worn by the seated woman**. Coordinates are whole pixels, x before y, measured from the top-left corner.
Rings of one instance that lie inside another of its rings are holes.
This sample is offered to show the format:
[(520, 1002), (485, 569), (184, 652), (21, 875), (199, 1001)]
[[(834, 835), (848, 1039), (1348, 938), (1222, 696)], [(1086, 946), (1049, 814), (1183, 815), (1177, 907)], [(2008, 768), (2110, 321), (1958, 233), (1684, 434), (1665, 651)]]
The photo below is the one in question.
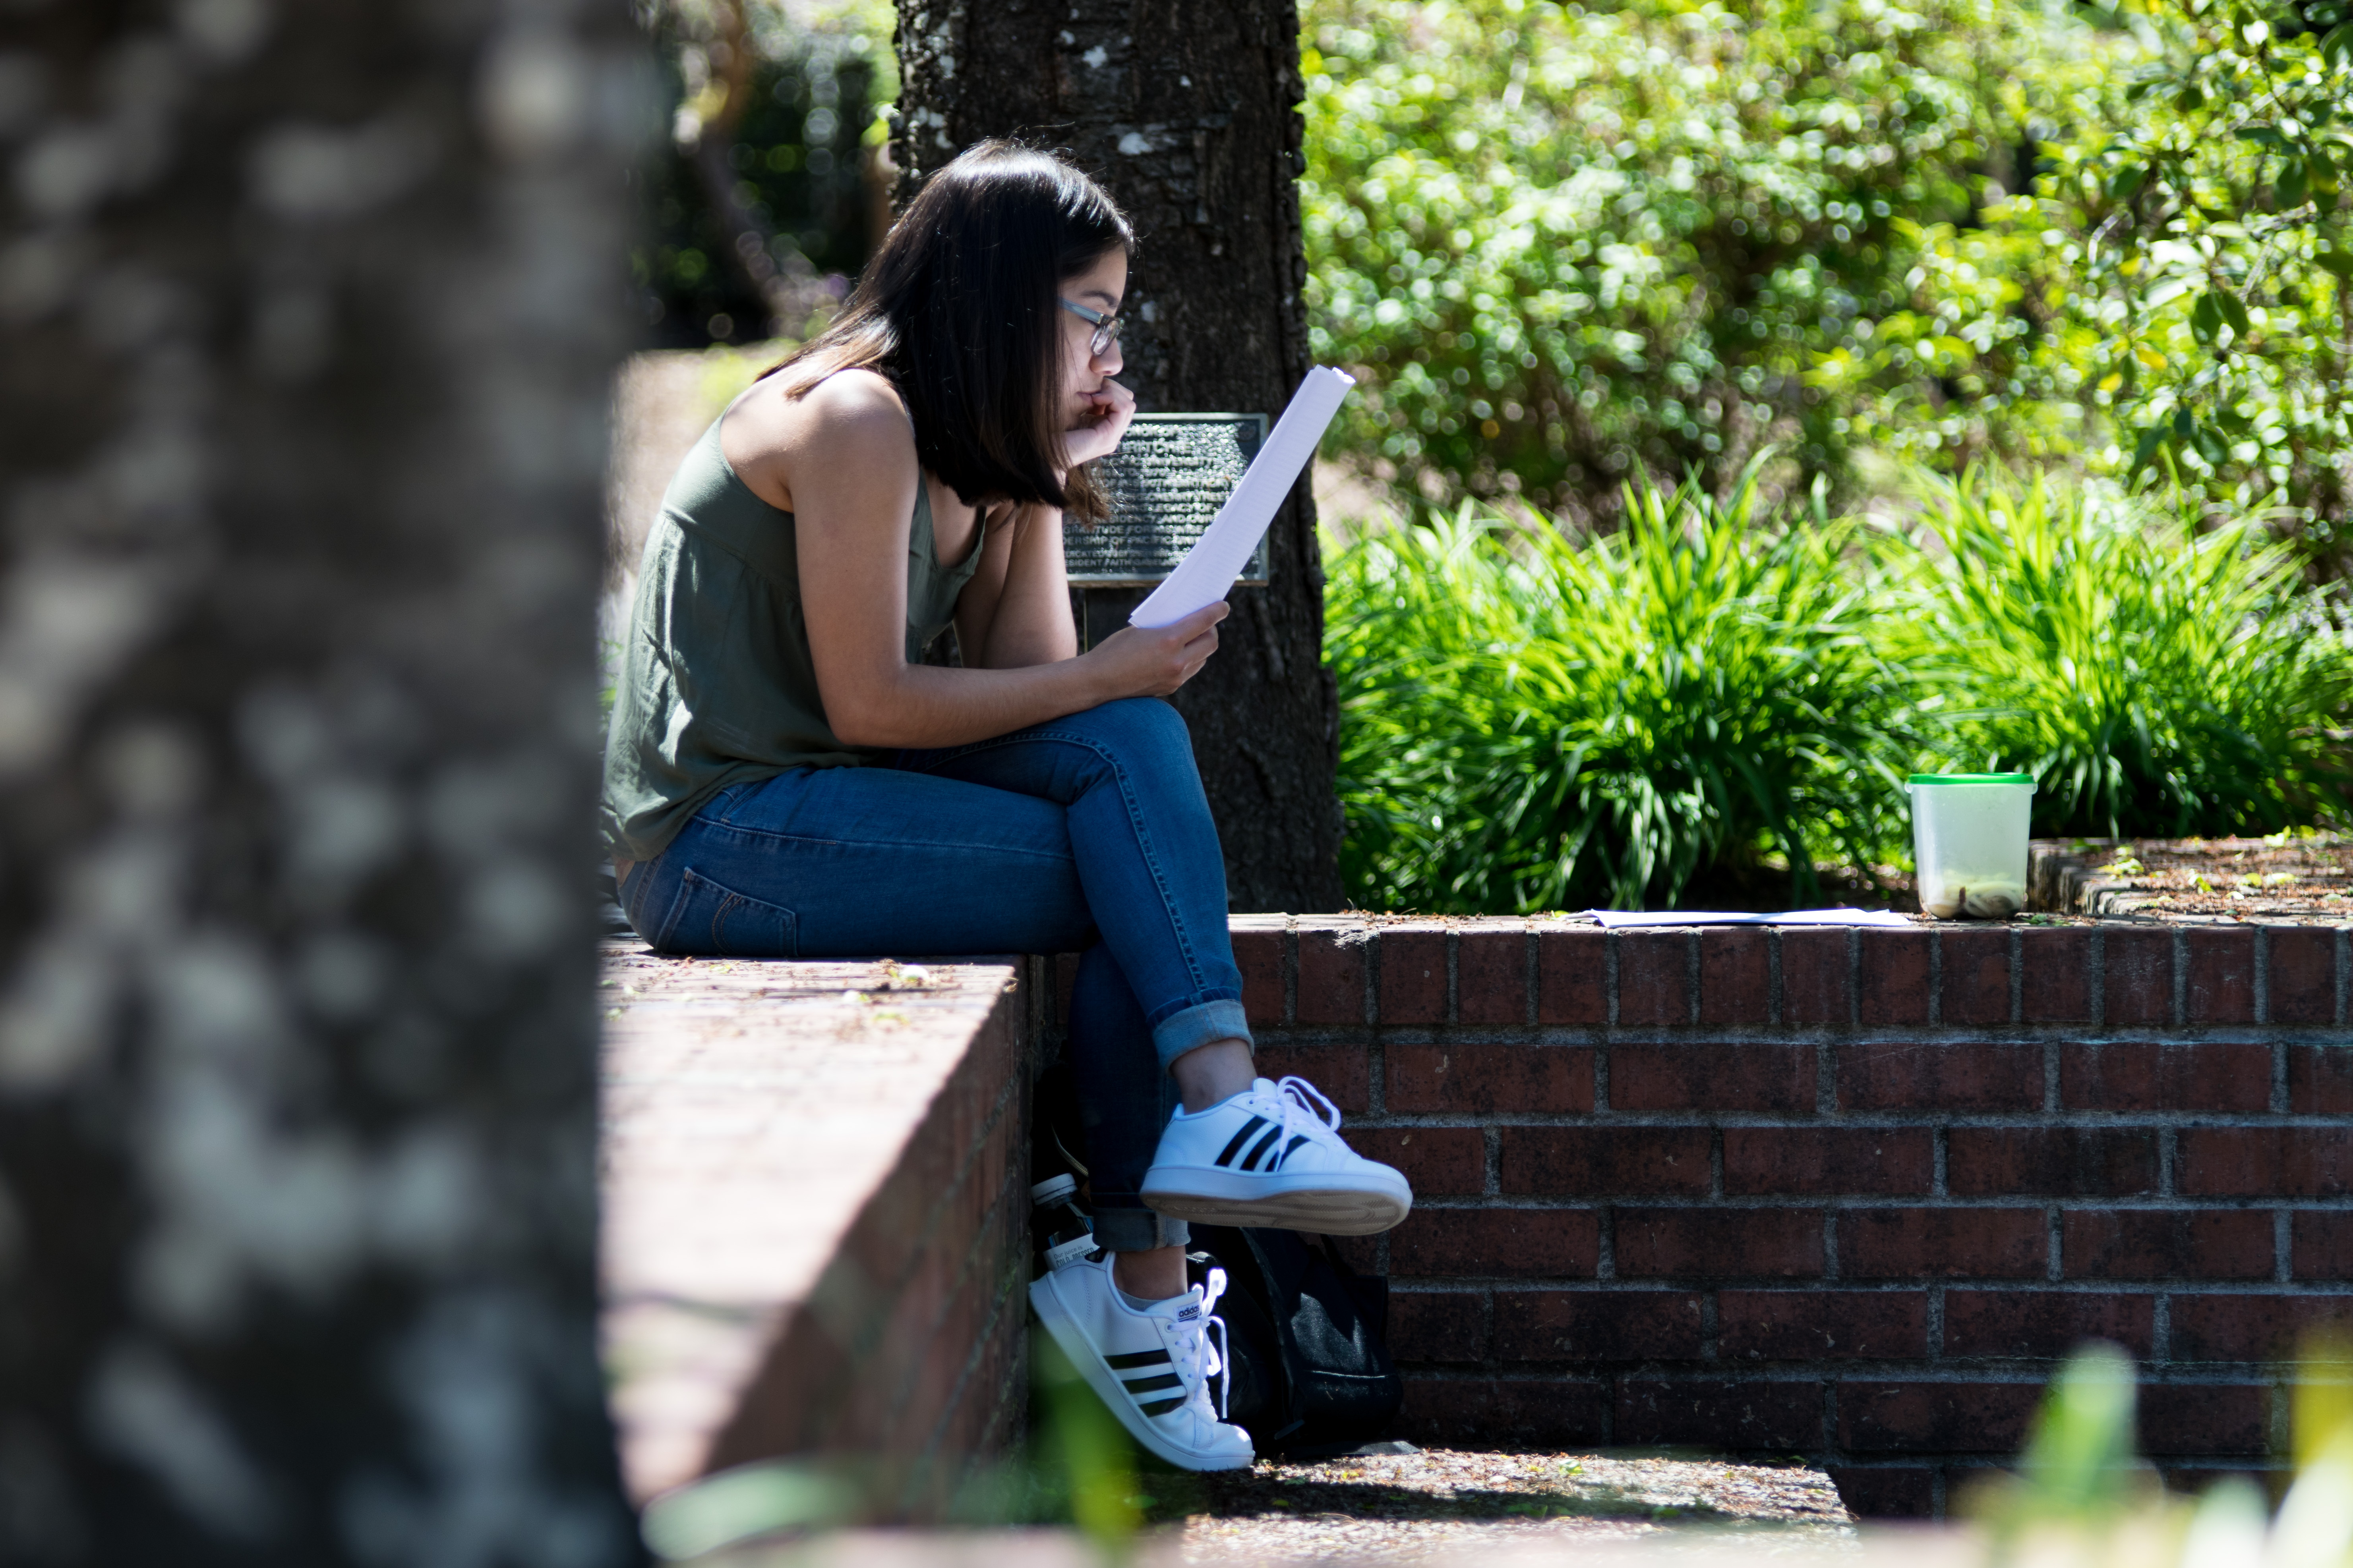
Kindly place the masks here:
[[(751, 491), (720, 449), (725, 414), (694, 442), (645, 541), (638, 599), (605, 738), (605, 839), (652, 860), (713, 795), (786, 769), (864, 766), (826, 724), (800, 614), (793, 515)], [(955, 616), (981, 541), (939, 564), (932, 494), (915, 487), (906, 543), (906, 658)]]

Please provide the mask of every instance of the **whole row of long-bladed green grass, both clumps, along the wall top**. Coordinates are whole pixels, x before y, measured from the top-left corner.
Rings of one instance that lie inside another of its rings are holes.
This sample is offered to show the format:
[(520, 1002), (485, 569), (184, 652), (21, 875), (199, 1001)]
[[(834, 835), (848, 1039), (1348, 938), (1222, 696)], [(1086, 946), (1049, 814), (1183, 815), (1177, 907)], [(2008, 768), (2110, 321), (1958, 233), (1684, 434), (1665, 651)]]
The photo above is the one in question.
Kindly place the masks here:
[(1918, 475), (1875, 538), (1626, 489), (1574, 543), (1466, 503), (1332, 550), (1341, 870), (1365, 907), (1668, 907), (1904, 858), (1897, 764), (2021, 769), (2042, 835), (2344, 823), (2353, 651), (2259, 522)]

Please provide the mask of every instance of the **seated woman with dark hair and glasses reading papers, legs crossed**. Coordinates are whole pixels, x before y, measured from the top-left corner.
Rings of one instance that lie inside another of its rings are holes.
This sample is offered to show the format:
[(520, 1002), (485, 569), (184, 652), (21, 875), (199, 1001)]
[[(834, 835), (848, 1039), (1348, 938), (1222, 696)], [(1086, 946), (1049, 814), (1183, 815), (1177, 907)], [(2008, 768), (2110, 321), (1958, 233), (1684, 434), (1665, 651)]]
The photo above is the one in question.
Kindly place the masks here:
[[(1146, 1448), (1231, 1469), (1252, 1448), (1209, 1399), (1186, 1220), (1369, 1234), (1412, 1192), (1301, 1079), (1252, 1072), (1217, 825), (1158, 701), (1226, 607), (1078, 651), (1061, 524), (1101, 512), (1085, 463), (1134, 416), (1132, 244), (1042, 153), (984, 143), (925, 183), (664, 496), (605, 827), (661, 952), (1085, 950), (1068, 1048), (1106, 1251), (1031, 1300)], [(965, 668), (925, 665), (951, 623)]]

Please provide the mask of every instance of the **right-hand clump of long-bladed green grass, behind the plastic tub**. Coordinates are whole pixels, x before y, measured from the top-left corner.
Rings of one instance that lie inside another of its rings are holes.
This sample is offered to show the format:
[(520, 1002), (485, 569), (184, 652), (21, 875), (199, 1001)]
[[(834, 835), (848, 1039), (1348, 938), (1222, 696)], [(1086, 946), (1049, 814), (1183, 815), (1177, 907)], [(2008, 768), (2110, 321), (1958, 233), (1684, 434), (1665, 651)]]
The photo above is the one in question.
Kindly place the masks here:
[(1932, 764), (2031, 771), (2045, 835), (2344, 820), (2327, 726), (2353, 661), (2287, 550), (2092, 484), (1920, 484), (1880, 646), (1934, 722)]

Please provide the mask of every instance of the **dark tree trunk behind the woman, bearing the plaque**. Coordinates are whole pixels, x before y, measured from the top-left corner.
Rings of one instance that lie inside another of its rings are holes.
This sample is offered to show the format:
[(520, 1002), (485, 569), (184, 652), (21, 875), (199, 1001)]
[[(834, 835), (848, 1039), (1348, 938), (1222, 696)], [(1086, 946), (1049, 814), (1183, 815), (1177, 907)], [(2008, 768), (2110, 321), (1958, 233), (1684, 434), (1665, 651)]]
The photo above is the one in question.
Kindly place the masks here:
[[(974, 141), (1021, 136), (1071, 155), (1134, 219), (1120, 378), (1139, 409), (1282, 411), (1308, 369), (1292, 0), (901, 0), (899, 71), (901, 197)], [(1304, 480), (1268, 559), (1273, 583), (1233, 592), (1219, 651), (1176, 708), (1233, 907), (1334, 910), (1339, 705)], [(1089, 639), (1141, 602), (1085, 597)]]

